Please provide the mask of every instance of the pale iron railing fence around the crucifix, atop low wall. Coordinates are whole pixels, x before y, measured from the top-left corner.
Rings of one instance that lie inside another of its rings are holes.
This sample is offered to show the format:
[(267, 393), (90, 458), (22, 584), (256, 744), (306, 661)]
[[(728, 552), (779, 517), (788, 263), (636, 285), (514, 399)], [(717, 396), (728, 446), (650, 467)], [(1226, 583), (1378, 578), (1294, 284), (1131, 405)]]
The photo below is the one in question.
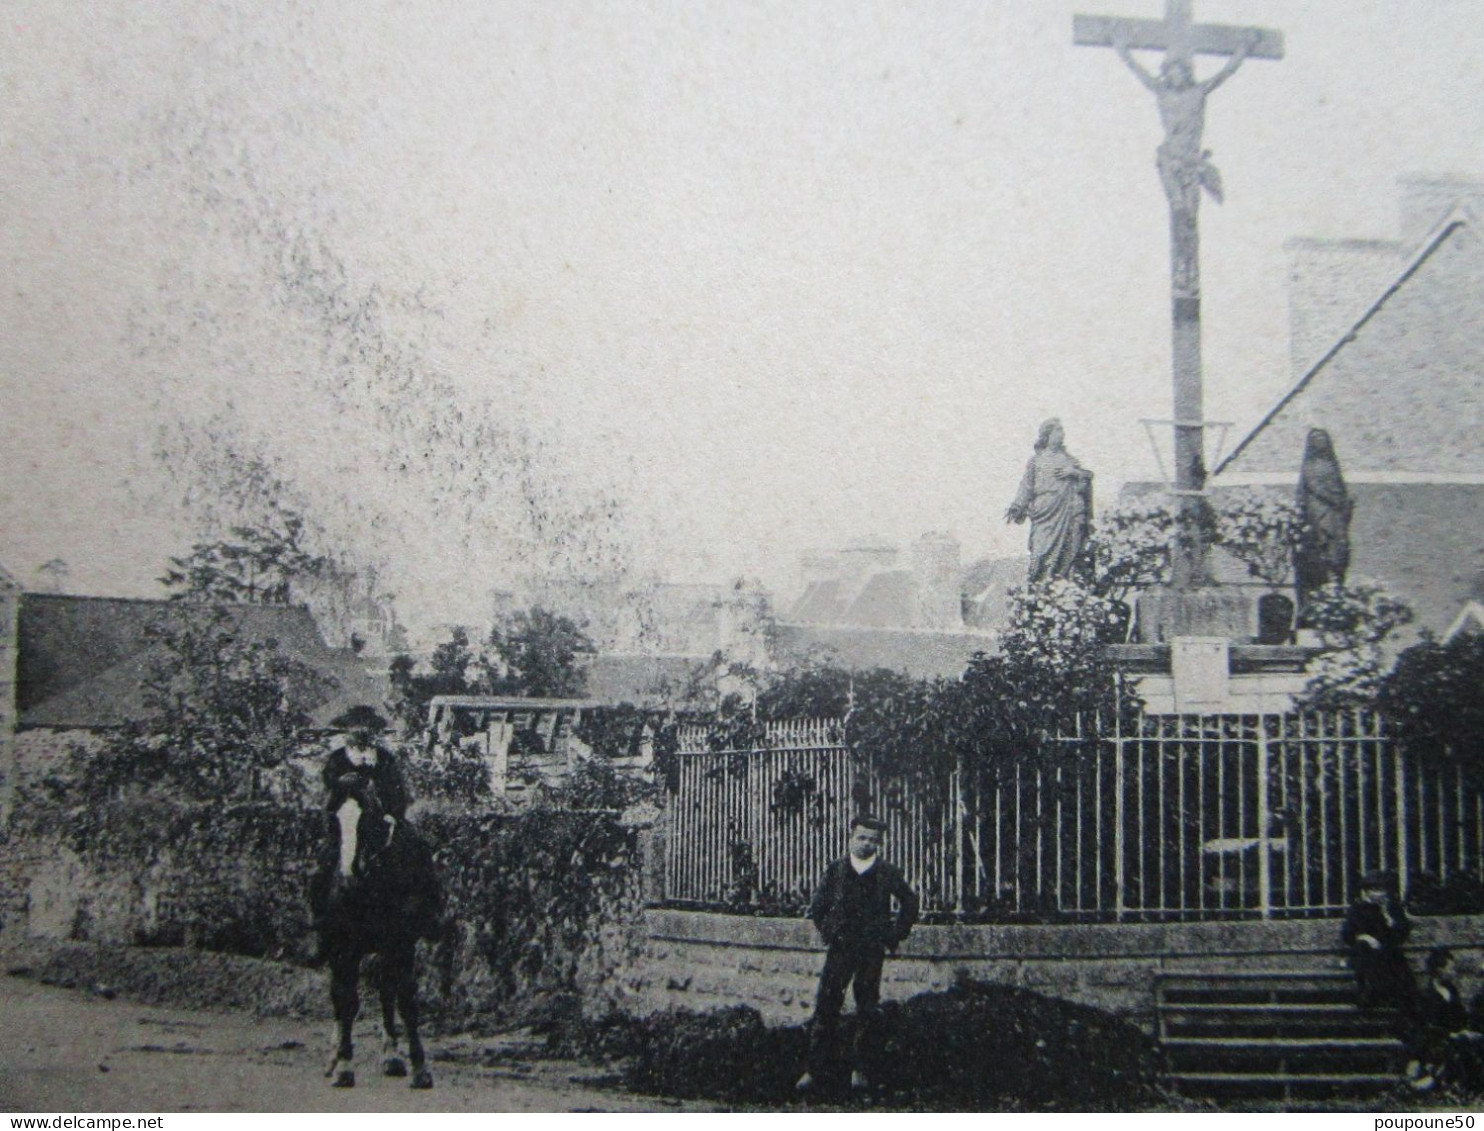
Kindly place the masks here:
[(757, 750), (717, 751), (683, 733), (668, 899), (801, 910), (861, 803), (889, 818), (925, 911), (971, 920), (1331, 916), (1367, 871), (1439, 888), (1484, 871), (1484, 794), (1362, 711), (1143, 715), (905, 781), (838, 735), (775, 724)]

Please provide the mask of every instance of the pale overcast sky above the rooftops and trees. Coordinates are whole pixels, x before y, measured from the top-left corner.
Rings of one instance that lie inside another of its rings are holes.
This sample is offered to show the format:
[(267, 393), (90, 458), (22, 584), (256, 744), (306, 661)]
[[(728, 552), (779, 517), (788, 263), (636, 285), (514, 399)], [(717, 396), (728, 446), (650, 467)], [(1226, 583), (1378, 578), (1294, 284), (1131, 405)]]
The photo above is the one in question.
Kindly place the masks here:
[[(787, 597), (803, 548), (928, 530), (1020, 551), (1042, 419), (1106, 502), (1169, 416), (1158, 116), (1074, 10), (1162, 3), (7, 4), (0, 564), (150, 595), (191, 537), (159, 430), (230, 420), (343, 539), (378, 515), (410, 619), (475, 616), (528, 564), (499, 512), (531, 482), (459, 515), (375, 435), (436, 444), (464, 402), (675, 579)], [(1291, 380), (1284, 240), (1391, 237), (1398, 177), (1484, 177), (1484, 21), (1196, 16), (1288, 47), (1208, 114), (1206, 411), (1241, 433)]]

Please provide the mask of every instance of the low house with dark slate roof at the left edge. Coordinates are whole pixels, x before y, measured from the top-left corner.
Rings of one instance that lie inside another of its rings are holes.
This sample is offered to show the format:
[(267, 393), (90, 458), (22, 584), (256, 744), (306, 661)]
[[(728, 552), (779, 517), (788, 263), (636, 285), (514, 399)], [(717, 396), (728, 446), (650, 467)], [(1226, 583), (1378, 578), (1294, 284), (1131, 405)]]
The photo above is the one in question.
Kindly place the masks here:
[(211, 606), (116, 597), (27, 592), (0, 576), (0, 781), (4, 809), (19, 779), (53, 764), (79, 741), (142, 718), (145, 681), (163, 656), (151, 629), (203, 620), (221, 610), (245, 641), (272, 641), (324, 677), (316, 723), (355, 704), (380, 705), (389, 686), (350, 649), (329, 647), (301, 606)]

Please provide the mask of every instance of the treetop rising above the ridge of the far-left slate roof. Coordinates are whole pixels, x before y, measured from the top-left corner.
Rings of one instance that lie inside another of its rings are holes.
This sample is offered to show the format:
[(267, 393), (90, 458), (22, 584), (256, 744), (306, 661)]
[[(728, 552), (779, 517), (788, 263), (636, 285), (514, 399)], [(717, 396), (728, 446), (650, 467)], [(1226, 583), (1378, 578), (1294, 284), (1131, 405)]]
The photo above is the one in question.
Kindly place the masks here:
[(334, 563), (304, 546), (304, 518), (275, 509), (257, 524), (232, 527), (227, 537), (197, 542), (171, 558), (160, 583), (175, 601), (289, 604), (295, 579), (326, 573)]

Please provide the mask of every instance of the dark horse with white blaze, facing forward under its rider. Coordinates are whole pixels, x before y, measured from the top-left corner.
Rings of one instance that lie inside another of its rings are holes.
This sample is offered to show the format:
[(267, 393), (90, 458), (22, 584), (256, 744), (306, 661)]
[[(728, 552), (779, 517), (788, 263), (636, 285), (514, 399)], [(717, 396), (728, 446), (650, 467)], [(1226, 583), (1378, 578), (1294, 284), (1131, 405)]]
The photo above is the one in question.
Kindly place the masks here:
[(387, 818), (377, 791), (364, 773), (341, 778), (346, 799), (331, 813), (338, 830), (338, 855), (328, 870), (319, 919), (321, 954), (329, 963), (329, 999), (335, 1008), (340, 1043), (326, 1078), (335, 1088), (353, 1088), (355, 1045), (352, 1026), (361, 1012), (361, 960), (375, 954), (377, 990), (387, 1076), (405, 1076), (407, 1061), (398, 1046), (396, 1014), (407, 1026), (413, 1086), (432, 1088), (433, 1073), (417, 1035), (417, 940), (435, 938), (442, 914), (438, 874), (427, 845), (405, 821)]

